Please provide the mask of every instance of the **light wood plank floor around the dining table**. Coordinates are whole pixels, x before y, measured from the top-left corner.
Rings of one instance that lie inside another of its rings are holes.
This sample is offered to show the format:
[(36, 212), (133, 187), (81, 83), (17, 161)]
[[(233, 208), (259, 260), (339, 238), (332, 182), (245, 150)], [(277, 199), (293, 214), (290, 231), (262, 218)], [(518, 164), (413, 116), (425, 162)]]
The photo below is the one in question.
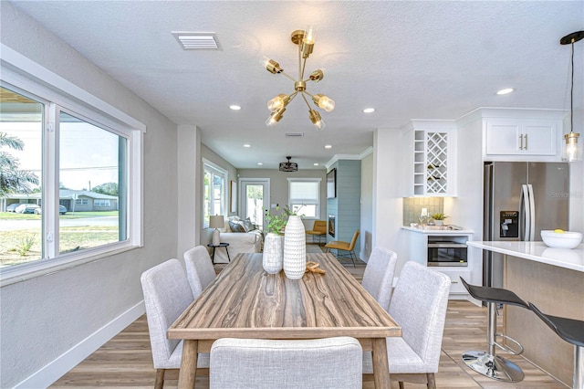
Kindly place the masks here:
[[(356, 278), (361, 279), (364, 263), (353, 268), (350, 260), (343, 259), (343, 264)], [(215, 265), (217, 272), (224, 265)], [(468, 301), (451, 300), (448, 304), (446, 323), (443, 334), (442, 355), (439, 372), (436, 373), (438, 388), (562, 388), (553, 377), (537, 369), (520, 356), (509, 356), (526, 373), (521, 383), (506, 384), (488, 379), (468, 369), (461, 360), (461, 354), (468, 350), (485, 350), (486, 310)], [(61, 377), (52, 388), (72, 387), (134, 387), (152, 388), (154, 384), (148, 324), (143, 315), (137, 321), (121, 331), (110, 342), (79, 363), (74, 369)], [(176, 380), (167, 380), (165, 388), (175, 388)], [(208, 377), (197, 377), (196, 388), (208, 388)], [(364, 389), (372, 389), (373, 382), (367, 379)], [(397, 383), (391, 385), (397, 388)], [(405, 384), (406, 389), (425, 388), (421, 384)]]

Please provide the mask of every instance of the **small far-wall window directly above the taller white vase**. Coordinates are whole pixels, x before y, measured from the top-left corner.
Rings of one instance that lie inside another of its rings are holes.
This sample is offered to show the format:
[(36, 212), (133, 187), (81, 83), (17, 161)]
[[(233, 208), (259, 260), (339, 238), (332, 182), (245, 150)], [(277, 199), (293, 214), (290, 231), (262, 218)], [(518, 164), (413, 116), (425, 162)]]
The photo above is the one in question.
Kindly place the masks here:
[(290, 209), (311, 219), (320, 216), (320, 178), (288, 178)]

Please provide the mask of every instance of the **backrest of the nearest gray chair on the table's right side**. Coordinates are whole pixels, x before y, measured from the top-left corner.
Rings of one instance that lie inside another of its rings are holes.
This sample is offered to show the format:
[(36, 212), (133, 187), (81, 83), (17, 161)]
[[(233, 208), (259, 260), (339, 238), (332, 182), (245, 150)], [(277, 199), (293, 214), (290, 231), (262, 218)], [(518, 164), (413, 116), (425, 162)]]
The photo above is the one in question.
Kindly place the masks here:
[(393, 290), (390, 315), (401, 326), (401, 336), (420, 356), (428, 372), (436, 373), (448, 307), (450, 278), (408, 261)]

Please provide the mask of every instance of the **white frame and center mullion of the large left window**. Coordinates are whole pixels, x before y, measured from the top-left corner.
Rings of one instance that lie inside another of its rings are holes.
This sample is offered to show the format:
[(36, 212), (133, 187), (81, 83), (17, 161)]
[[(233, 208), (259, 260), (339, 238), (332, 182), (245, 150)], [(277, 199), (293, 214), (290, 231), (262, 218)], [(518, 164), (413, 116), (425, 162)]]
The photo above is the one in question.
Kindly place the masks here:
[[(99, 127), (112, 131), (128, 142), (128, 239), (92, 247), (74, 253), (59, 254), (55, 245), (47, 243), (58, 237), (58, 217), (51, 208), (43, 217), (46, 241), (45, 257), (22, 265), (0, 269), (0, 286), (43, 276), (59, 268), (69, 268), (125, 250), (143, 246), (143, 134), (146, 126), (109, 103), (91, 95), (84, 89), (63, 79), (52, 71), (24, 57), (10, 47), (0, 44), (0, 85), (22, 93), (45, 104), (44, 115), (44, 201), (58, 201), (58, 139), (55, 134), (57, 114), (60, 110), (74, 112)], [(52, 215), (52, 216), (51, 216)], [(57, 214), (58, 215), (58, 214)]]

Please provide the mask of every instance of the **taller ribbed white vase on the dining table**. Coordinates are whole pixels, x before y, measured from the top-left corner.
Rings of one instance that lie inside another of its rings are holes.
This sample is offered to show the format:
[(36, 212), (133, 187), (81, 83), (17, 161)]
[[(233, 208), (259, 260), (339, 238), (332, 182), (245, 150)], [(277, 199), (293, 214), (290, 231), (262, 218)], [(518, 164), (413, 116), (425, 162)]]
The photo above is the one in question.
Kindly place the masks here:
[(301, 279), (307, 269), (307, 238), (300, 216), (288, 216), (284, 232), (284, 273)]

